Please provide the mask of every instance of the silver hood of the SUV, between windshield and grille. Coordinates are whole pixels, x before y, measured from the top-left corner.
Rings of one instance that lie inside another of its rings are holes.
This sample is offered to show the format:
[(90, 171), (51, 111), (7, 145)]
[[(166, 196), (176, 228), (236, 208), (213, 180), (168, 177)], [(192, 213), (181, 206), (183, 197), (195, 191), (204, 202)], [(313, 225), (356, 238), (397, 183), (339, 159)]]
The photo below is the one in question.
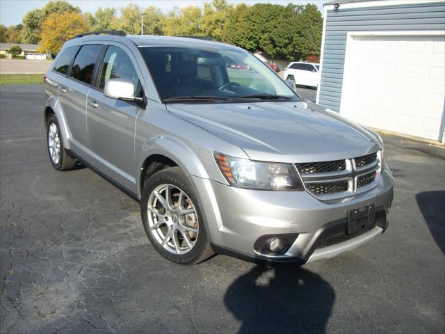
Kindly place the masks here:
[(252, 160), (330, 161), (380, 149), (372, 132), (312, 102), (166, 106), (176, 116), (237, 145)]

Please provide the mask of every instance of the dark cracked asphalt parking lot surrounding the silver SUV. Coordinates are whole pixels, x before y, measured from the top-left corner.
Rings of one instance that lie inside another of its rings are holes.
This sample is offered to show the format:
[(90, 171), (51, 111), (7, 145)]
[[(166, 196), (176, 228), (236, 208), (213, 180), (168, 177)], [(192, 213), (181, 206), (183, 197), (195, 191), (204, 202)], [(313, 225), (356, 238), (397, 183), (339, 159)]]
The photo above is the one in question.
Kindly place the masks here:
[(138, 203), (51, 168), (43, 105), (42, 85), (0, 87), (0, 333), (444, 333), (444, 149), (383, 135), (389, 229), (353, 252), (184, 267), (149, 244)]

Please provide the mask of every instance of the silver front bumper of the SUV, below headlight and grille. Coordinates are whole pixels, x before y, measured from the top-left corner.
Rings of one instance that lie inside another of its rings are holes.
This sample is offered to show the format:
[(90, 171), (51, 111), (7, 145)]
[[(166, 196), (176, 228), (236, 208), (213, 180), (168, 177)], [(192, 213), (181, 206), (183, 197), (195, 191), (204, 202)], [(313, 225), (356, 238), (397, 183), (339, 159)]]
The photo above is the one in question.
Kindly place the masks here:
[[(360, 246), (387, 228), (387, 214), (393, 199), (389, 168), (385, 168), (374, 189), (329, 202), (318, 200), (307, 191), (238, 189), (192, 178), (201, 195), (200, 206), (213, 250), (252, 262), (303, 264)], [(317, 248), (327, 235), (346, 230), (348, 211), (366, 205), (375, 205), (380, 217), (375, 228), (339, 244)], [(292, 244), (280, 255), (255, 250), (255, 242), (269, 234), (291, 236)]]

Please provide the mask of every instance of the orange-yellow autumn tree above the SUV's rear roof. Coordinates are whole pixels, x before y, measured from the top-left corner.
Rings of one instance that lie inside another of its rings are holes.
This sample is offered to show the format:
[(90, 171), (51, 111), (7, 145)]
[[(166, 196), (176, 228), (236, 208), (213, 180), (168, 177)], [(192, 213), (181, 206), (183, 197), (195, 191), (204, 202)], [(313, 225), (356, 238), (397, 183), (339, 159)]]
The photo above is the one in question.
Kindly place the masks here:
[(57, 54), (64, 42), (89, 29), (86, 18), (79, 13), (51, 13), (42, 23), (40, 51)]

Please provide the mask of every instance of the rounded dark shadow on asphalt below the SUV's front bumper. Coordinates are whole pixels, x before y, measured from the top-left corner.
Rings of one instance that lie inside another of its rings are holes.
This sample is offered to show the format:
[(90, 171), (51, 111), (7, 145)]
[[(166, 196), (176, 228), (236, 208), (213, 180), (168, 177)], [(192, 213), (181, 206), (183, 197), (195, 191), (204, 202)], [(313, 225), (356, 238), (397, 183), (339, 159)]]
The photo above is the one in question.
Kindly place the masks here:
[(325, 333), (334, 300), (330, 284), (302, 267), (254, 267), (224, 297), (242, 322), (238, 334)]

